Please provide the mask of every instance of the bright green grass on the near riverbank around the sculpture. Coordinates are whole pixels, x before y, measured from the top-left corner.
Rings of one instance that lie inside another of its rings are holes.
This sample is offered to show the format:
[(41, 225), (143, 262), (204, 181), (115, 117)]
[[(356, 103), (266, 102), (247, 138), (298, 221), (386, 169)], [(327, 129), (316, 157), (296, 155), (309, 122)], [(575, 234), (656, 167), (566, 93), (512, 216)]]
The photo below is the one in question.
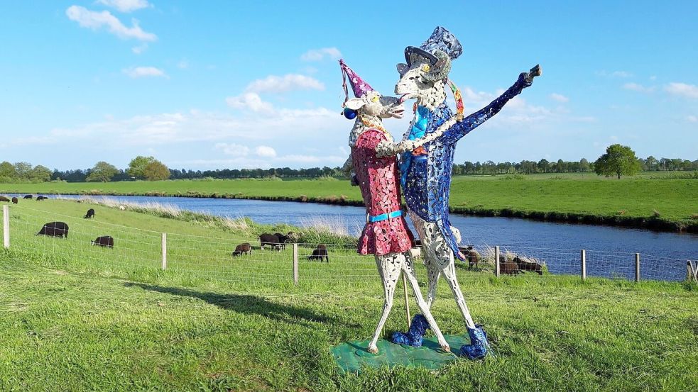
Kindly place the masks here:
[[(696, 284), (582, 283), (572, 276), (537, 279), (531, 274), (496, 279), (459, 270), (464, 295), (485, 325), (495, 357), (457, 361), (435, 373), (397, 368), (345, 375), (335, 369), (329, 347), (371, 336), (382, 308), (379, 281), (253, 284), (219, 274), (193, 276), (176, 265), (159, 271), (157, 262), (117, 264), (114, 259), (123, 256), (125, 246), (120, 244), (126, 243), (121, 238), (130, 233), (126, 228), (231, 241), (268, 228), (104, 206), (94, 207), (94, 222), (83, 222), (84, 203), (50, 200), (22, 206), (11, 209), (11, 249), (0, 250), (1, 391), (698, 388)], [(69, 240), (33, 236), (36, 219), (52, 214), (76, 216), (64, 218), (75, 230)], [(114, 250), (80, 245), (95, 225), (121, 227)], [(144, 242), (139, 250), (147, 252), (146, 235), (138, 240)], [(205, 254), (199, 257), (212, 262)], [(230, 258), (220, 262), (224, 269), (235, 268)], [(253, 261), (239, 264), (248, 274), (261, 268)], [(308, 265), (317, 268), (317, 276), (329, 267)], [(332, 271), (326, 272), (335, 278), (357, 269), (341, 260), (329, 265)], [(440, 327), (463, 333), (447, 287), (440, 286), (439, 293), (433, 311)], [(400, 302), (386, 324), (386, 337), (404, 328)]]

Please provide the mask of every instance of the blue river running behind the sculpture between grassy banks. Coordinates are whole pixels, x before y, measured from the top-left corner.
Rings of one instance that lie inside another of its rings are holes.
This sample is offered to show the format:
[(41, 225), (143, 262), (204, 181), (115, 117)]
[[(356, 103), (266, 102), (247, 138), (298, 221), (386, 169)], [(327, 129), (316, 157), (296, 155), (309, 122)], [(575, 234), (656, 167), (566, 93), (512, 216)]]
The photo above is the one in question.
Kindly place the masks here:
[[(258, 223), (303, 226), (314, 220), (329, 220), (343, 225), (351, 235), (359, 235), (366, 221), (364, 208), (354, 206), (224, 198), (109, 197), (124, 202), (171, 204), (212, 215), (247, 216)], [(640, 253), (642, 276), (677, 281), (686, 277), (686, 260), (698, 260), (698, 235), (694, 234), (457, 214), (451, 215), (451, 223), (460, 230), (462, 244), (479, 249), (499, 245), (503, 251), (545, 260), (553, 273), (579, 274), (582, 249), (587, 250), (589, 276), (633, 279), (635, 253)]]

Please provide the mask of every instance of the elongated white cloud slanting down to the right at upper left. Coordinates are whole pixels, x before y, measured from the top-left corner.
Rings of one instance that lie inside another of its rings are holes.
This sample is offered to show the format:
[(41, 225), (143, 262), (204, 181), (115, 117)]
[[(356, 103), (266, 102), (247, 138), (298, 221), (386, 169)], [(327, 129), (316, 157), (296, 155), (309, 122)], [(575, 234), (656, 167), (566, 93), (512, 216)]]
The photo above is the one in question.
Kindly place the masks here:
[(126, 27), (124, 23), (119, 21), (119, 18), (112, 15), (109, 11), (89, 11), (81, 6), (70, 6), (65, 10), (65, 14), (71, 21), (76, 21), (81, 27), (99, 30), (104, 27), (109, 30), (109, 33), (116, 35), (122, 39), (133, 38), (141, 41), (155, 41), (157, 35), (143, 31), (138, 22), (133, 20), (133, 26)]

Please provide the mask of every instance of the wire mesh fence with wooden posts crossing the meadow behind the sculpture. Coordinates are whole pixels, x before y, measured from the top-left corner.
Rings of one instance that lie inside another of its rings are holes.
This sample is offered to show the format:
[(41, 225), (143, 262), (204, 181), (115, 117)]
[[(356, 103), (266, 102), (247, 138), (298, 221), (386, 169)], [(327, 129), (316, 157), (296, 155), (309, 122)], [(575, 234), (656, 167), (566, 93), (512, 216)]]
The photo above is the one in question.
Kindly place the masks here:
[[(357, 254), (355, 244), (322, 244), (325, 248), (320, 249), (321, 244), (297, 242), (262, 249), (257, 237), (244, 238), (239, 233), (222, 233), (219, 237), (165, 233), (23, 206), (3, 207), (4, 246), (41, 254), (44, 260), (70, 259), (89, 268), (146, 274), (166, 270), (192, 279), (246, 284), (381, 281), (373, 256)], [(67, 224), (65, 236), (37, 234), (45, 224), (55, 221)], [(93, 245), (102, 236), (112, 237), (114, 247)], [(236, 252), (242, 244), (250, 245), (249, 252)], [(696, 279), (698, 271), (695, 261), (631, 252), (522, 245), (483, 245), (474, 251), (479, 255), (477, 262), (456, 261), (459, 279), (491, 275), (555, 279), (577, 275), (582, 279), (683, 281)], [(420, 250), (413, 253), (420, 257)], [(418, 268), (418, 274), (424, 278), (424, 268)]]

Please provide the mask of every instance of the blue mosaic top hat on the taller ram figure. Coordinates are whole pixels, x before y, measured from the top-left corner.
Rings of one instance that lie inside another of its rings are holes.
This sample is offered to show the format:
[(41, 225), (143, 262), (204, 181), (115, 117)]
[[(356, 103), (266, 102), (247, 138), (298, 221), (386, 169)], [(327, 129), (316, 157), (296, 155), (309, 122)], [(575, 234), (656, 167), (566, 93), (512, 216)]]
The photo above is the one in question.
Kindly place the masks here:
[(431, 79), (443, 79), (451, 70), (451, 60), (457, 59), (462, 54), (463, 47), (456, 36), (438, 26), (420, 47), (405, 47), (407, 64), (398, 64), (398, 72), (405, 74), (413, 63), (428, 62), (434, 68), (430, 72), (433, 74)]

